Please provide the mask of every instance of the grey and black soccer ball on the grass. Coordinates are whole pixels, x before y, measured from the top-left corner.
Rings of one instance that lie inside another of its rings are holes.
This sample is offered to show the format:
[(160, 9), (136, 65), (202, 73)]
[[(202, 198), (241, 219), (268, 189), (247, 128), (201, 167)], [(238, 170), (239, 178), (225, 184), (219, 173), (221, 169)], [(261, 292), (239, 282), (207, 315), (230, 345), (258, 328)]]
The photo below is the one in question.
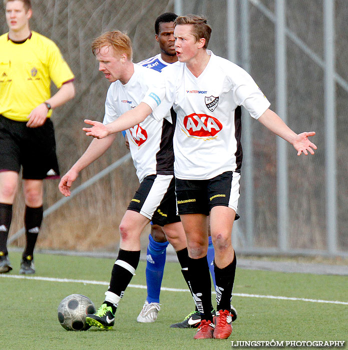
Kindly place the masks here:
[(96, 312), (90, 298), (81, 294), (65, 297), (58, 306), (58, 319), (67, 330), (87, 330), (91, 326), (86, 323), (86, 315)]

